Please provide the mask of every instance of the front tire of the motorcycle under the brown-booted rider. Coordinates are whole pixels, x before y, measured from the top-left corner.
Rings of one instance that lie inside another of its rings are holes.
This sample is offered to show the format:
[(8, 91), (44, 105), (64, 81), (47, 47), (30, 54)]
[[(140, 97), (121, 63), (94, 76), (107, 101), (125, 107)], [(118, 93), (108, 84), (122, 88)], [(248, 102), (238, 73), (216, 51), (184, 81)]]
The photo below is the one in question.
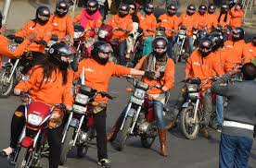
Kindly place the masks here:
[(133, 123), (133, 118), (128, 116), (123, 125), (122, 131), (118, 132), (116, 140), (114, 141), (114, 144), (116, 145), (116, 150), (122, 151), (124, 149), (125, 142), (129, 136), (129, 131), (132, 123)]

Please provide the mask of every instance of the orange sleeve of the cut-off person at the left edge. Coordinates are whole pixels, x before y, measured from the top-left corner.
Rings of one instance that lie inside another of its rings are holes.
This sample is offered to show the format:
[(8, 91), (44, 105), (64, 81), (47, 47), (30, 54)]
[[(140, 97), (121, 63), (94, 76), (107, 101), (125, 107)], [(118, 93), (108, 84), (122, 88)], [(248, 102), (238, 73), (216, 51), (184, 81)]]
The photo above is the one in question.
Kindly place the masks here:
[(25, 39), (22, 43), (19, 44), (17, 48), (14, 49), (9, 44), (6, 37), (0, 34), (0, 43), (1, 43), (0, 54), (3, 54), (9, 58), (14, 59), (19, 57), (21, 54), (23, 54), (31, 42)]

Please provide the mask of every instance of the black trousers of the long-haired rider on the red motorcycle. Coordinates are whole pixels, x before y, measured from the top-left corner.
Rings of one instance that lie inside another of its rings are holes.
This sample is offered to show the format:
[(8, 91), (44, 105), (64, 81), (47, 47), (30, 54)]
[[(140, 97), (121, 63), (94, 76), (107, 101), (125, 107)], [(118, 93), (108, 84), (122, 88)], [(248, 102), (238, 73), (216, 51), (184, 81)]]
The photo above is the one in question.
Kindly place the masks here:
[[(17, 148), (19, 135), (25, 124), (24, 112), (25, 107), (20, 105), (12, 116), (10, 147), (13, 149)], [(58, 168), (61, 149), (62, 127), (58, 126), (53, 129), (47, 128), (47, 132), (49, 144), (49, 168)]]

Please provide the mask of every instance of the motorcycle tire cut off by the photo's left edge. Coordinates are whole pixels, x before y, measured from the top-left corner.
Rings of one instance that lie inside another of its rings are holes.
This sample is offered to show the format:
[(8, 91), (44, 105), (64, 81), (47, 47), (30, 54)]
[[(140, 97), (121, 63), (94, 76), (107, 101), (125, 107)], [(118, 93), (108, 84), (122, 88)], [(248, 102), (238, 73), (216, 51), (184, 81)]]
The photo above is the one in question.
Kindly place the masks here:
[(7, 83), (7, 78), (10, 75), (11, 67), (3, 67), (0, 72), (0, 98), (8, 98), (15, 87), (15, 74), (10, 78), (10, 82)]

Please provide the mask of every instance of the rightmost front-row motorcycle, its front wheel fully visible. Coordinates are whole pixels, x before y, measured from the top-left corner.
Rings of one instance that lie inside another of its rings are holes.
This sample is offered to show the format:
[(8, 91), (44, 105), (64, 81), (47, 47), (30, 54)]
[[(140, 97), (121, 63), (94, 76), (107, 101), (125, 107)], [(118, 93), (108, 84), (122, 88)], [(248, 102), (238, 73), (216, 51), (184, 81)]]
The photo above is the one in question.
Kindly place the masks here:
[(187, 99), (182, 105), (182, 111), (180, 112), (180, 125), (183, 134), (188, 139), (197, 138), (199, 127), (203, 124), (202, 88), (212, 79), (206, 78), (202, 85), (199, 78), (187, 78), (182, 81), (186, 83)]

